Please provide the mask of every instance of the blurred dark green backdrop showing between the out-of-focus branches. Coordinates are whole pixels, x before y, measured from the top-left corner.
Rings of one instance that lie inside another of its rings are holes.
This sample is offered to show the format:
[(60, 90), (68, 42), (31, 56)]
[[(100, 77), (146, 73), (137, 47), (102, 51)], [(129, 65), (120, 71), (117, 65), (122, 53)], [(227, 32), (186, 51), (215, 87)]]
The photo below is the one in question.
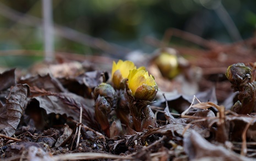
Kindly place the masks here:
[[(6, 0), (0, 2), (20, 13), (42, 18), (42, 1)], [(55, 24), (116, 43), (131, 51), (140, 49), (151, 53), (155, 47), (145, 43), (145, 36), (161, 40), (165, 31), (171, 27), (191, 32), (207, 40), (232, 43), (234, 40), (213, 10), (216, 2), (211, 0), (53, 0), (53, 20)], [(256, 1), (224, 0), (221, 2), (241, 37), (243, 39), (252, 37), (256, 25)], [(181, 38), (172, 38), (170, 43), (187, 46), (187, 42)], [(0, 49), (1, 53), (6, 50), (21, 49), (43, 51), (42, 30), (39, 27), (10, 20), (0, 14)], [(79, 54), (108, 54), (115, 57), (112, 53), (58, 36), (55, 36), (55, 50)], [(120, 52), (119, 57), (125, 54), (125, 52)], [(0, 65), (12, 66), (17, 59), (20, 60), (16, 56), (13, 58), (1, 54)], [(40, 59), (40, 57), (26, 58), (27, 62), (34, 59)]]

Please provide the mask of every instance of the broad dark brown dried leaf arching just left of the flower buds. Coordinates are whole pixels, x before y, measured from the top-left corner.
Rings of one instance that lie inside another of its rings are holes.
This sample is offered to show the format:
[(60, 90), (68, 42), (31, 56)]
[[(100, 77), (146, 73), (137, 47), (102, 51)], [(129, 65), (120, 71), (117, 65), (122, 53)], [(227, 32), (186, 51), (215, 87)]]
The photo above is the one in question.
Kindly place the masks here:
[[(97, 125), (94, 119), (94, 102), (90, 99), (77, 96), (73, 93), (41, 93), (42, 96), (32, 97), (28, 103), (34, 101), (39, 103), (39, 107), (46, 110), (47, 114), (66, 114), (74, 120), (79, 120), (79, 108), (83, 108), (83, 123), (95, 127)], [(35, 107), (33, 107), (35, 108)], [(29, 113), (29, 111), (28, 111)]]

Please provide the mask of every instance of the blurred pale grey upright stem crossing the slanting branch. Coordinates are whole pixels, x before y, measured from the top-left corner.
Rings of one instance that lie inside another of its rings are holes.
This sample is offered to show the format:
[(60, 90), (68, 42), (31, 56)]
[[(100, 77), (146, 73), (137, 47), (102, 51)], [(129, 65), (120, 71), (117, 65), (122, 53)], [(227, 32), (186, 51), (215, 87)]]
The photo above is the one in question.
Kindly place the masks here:
[(53, 39), (53, 22), (52, 22), (52, 1), (43, 0), (42, 1), (43, 10), (43, 36), (45, 45), (45, 61), (53, 62), (54, 55), (54, 39)]

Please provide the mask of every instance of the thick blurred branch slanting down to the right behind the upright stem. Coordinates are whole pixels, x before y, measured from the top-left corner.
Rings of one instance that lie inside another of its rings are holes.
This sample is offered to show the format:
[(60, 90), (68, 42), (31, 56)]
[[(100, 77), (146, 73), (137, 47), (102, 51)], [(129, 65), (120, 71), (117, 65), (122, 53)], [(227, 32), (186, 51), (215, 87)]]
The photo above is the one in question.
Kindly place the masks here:
[[(0, 14), (8, 19), (24, 25), (36, 26), (40, 28), (42, 27), (42, 20), (40, 18), (17, 12), (16, 10), (7, 7), (3, 3), (0, 3)], [(124, 48), (113, 43), (108, 43), (104, 40), (83, 34), (68, 27), (55, 24), (54, 29), (57, 36), (67, 38), (85, 46), (101, 49), (104, 52), (115, 55), (116, 58), (122, 58), (124, 54), (130, 52), (130, 49), (128, 48)]]

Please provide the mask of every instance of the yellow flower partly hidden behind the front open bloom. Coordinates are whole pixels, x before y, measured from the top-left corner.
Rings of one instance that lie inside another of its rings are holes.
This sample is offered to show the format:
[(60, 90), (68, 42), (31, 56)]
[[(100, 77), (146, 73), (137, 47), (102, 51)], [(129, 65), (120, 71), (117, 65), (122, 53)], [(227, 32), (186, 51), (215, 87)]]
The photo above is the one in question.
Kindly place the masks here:
[[(112, 66), (112, 82), (116, 88), (121, 88), (121, 83), (129, 75), (129, 70), (136, 69), (133, 62), (126, 60), (119, 60), (117, 63), (113, 62)], [(144, 70), (145, 67), (141, 66), (139, 70)]]

